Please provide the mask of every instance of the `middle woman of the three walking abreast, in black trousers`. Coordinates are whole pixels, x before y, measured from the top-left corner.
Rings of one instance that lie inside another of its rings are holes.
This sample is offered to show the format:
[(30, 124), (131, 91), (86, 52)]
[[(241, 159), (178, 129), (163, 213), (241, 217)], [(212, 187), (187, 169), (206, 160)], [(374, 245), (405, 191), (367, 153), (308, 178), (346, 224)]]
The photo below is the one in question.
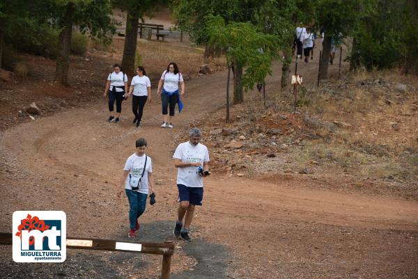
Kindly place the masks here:
[(135, 115), (134, 124), (139, 127), (144, 111), (145, 103), (148, 99), (151, 102), (151, 82), (146, 76), (144, 67), (137, 67), (137, 75), (133, 77), (129, 88), (128, 96), (132, 95), (132, 112)]

